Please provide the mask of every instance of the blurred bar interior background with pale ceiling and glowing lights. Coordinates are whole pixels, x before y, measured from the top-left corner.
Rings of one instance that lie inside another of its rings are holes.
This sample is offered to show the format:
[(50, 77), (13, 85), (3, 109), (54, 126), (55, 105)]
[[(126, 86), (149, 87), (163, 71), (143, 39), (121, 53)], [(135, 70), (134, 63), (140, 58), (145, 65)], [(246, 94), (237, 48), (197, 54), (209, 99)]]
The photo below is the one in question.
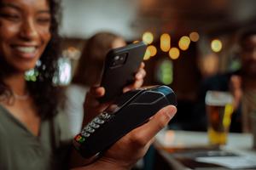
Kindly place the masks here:
[(60, 61), (57, 82), (70, 82), (86, 39), (97, 31), (113, 31), (126, 42), (143, 40), (144, 85), (175, 90), (177, 119), (191, 111), (204, 78), (239, 69), (237, 35), (256, 21), (253, 0), (63, 0), (62, 8), (63, 56), (71, 62)]

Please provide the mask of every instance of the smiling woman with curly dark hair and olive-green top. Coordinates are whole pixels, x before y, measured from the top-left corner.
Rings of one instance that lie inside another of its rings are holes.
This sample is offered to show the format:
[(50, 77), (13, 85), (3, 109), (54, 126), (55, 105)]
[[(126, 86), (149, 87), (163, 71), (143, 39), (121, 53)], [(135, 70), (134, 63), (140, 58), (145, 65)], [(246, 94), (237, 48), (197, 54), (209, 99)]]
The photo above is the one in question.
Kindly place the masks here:
[[(0, 1), (0, 169), (54, 167), (49, 157), (55, 160), (59, 146), (49, 121), (60, 95), (51, 81), (59, 56), (57, 7), (46, 0)], [(38, 81), (26, 82), (25, 71), (38, 59)]]

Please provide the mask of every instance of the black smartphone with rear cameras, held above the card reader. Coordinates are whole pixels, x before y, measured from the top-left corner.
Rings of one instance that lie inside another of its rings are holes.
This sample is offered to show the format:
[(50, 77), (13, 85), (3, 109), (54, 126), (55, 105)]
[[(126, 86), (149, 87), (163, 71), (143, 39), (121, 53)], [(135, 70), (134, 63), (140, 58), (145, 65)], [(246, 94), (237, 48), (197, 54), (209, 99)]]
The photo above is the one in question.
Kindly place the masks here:
[(134, 76), (143, 61), (147, 45), (144, 42), (131, 43), (114, 48), (106, 56), (101, 86), (105, 95), (99, 99), (106, 102), (123, 92), (123, 88), (134, 81)]

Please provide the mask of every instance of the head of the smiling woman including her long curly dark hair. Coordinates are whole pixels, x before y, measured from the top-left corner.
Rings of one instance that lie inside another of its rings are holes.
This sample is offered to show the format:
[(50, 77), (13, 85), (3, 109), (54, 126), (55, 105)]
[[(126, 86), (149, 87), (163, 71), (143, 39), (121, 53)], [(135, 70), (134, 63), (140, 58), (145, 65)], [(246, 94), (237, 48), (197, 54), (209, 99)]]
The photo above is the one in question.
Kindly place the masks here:
[(55, 113), (56, 105), (56, 99), (52, 97), (57, 98), (59, 95), (51, 83), (59, 56), (58, 6), (55, 1), (48, 4), (47, 1), (2, 0), (0, 7), (0, 82), (8, 79), (13, 72), (19, 73), (20, 79), (23, 79), (24, 71), (32, 69), (39, 58), (42, 63), (38, 68), (38, 82), (29, 83), (28, 89), (21, 86), (25, 86), (24, 82), (18, 83), (19, 88), (13, 90), (9, 89), (6, 82), (2, 82), (0, 95), (13, 97), (13, 93), (22, 95), (29, 91), (39, 104), (40, 115), (51, 116)]

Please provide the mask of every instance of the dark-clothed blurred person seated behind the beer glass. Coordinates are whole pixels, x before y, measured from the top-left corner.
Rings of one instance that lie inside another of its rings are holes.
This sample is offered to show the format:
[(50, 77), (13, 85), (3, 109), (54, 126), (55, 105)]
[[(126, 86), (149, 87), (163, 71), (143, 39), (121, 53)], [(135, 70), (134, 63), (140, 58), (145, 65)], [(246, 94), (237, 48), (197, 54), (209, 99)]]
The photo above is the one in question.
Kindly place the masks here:
[(241, 69), (207, 78), (202, 82), (199, 104), (195, 106), (195, 129), (207, 129), (205, 96), (208, 90), (229, 91), (234, 96), (231, 132), (250, 132), (250, 114), (256, 111), (256, 27), (241, 32)]

